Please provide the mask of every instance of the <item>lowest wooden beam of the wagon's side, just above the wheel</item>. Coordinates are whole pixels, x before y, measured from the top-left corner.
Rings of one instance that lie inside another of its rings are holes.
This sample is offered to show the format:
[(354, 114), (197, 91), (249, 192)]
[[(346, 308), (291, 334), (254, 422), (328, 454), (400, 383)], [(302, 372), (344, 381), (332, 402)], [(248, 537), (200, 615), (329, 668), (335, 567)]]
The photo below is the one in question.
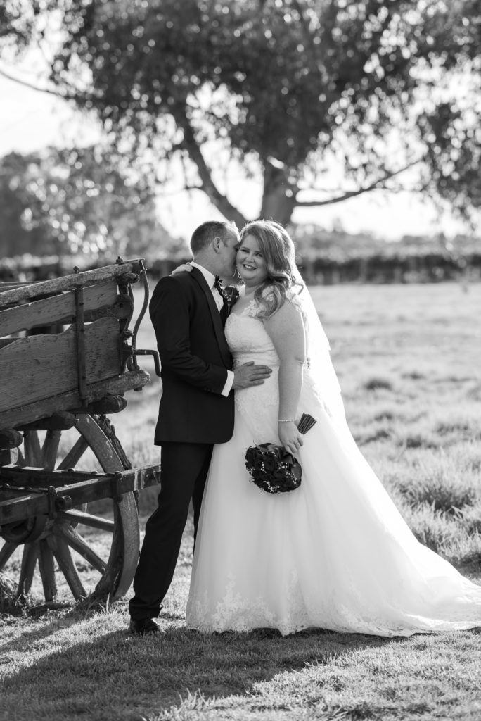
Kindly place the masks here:
[[(149, 374), (139, 369), (122, 373), (121, 376), (107, 379), (107, 381), (90, 384), (87, 386), (89, 403), (108, 395), (125, 393), (133, 388), (143, 388), (149, 380)], [(59, 394), (0, 412), (0, 428), (19, 428), (25, 423), (33, 423), (35, 420), (48, 417), (60, 410), (72, 410), (79, 406), (77, 390)]]

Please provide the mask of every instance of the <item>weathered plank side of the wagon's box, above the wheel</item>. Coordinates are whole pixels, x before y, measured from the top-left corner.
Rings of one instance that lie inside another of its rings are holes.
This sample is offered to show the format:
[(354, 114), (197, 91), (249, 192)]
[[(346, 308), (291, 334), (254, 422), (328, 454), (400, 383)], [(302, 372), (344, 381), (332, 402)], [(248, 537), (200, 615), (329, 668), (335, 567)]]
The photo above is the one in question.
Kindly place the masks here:
[[(136, 350), (128, 327), (130, 284), (139, 275), (145, 276), (142, 260), (119, 260), (41, 283), (0, 287), (0, 429), (19, 428), (54, 412), (122, 410), (125, 391), (148, 382), (150, 376), (136, 361), (143, 351)], [(146, 282), (145, 293), (147, 298)], [(143, 311), (145, 306), (146, 301)], [(17, 337), (53, 324), (69, 326)], [(99, 406), (102, 399), (109, 400), (107, 407)]]

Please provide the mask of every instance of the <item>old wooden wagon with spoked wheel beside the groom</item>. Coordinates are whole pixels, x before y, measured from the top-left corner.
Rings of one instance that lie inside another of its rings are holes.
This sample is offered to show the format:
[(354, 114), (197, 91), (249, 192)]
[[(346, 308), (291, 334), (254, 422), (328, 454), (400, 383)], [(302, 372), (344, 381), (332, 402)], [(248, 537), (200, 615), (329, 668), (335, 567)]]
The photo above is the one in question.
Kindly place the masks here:
[(107, 414), (148, 382), (138, 355), (153, 354), (158, 371), (156, 352), (136, 348), (147, 304), (142, 260), (0, 284), (0, 574), (13, 568), (18, 601), (37, 568), (47, 602), (61, 576), (88, 602), (120, 598), (132, 581), (138, 490), (159, 482), (160, 466), (132, 469)]

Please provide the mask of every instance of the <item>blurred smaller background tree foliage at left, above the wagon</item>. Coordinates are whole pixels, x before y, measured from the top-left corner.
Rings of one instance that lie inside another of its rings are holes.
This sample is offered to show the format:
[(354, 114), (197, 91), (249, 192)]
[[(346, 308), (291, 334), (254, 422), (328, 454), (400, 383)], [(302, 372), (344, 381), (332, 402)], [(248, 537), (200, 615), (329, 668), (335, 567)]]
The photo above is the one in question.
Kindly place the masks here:
[[(166, 241), (142, 186), (100, 149), (9, 154), (0, 162), (1, 255), (138, 257)], [(169, 239), (170, 240), (170, 239)]]

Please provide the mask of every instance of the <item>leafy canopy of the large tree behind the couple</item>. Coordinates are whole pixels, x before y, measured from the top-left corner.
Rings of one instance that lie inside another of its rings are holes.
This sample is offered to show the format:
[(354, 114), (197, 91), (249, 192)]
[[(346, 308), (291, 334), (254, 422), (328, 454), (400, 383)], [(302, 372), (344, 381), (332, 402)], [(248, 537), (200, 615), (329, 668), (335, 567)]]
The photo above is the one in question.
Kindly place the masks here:
[[(481, 205), (478, 0), (57, 6), (59, 92), (96, 110), (152, 180), (180, 161), (186, 187), (238, 224), (228, 164), (262, 179), (251, 217), (288, 222), (296, 207), (406, 177), (461, 212)], [(323, 185), (333, 162), (347, 192)]]

